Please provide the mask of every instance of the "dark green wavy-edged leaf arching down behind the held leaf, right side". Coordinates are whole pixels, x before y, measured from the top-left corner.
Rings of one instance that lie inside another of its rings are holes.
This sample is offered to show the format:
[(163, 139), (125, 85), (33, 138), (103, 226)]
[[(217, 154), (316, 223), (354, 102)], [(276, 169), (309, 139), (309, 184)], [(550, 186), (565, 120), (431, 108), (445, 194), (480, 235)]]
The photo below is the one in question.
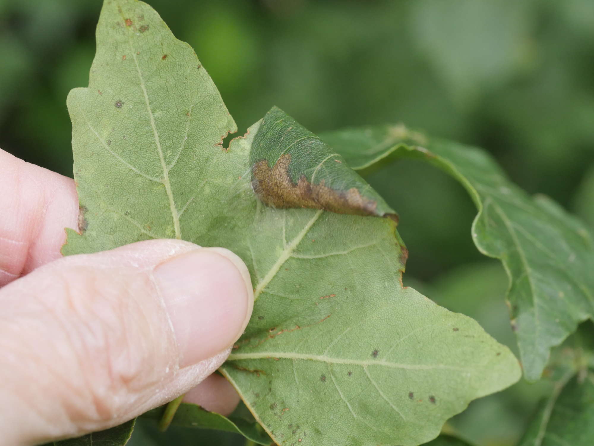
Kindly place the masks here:
[(541, 376), (551, 347), (594, 315), (594, 251), (586, 227), (552, 200), (528, 196), (482, 150), (428, 139), (402, 125), (331, 132), (323, 139), (354, 169), (417, 158), (463, 184), (479, 211), (473, 241), (500, 259), (510, 278), (512, 327), (530, 381)]

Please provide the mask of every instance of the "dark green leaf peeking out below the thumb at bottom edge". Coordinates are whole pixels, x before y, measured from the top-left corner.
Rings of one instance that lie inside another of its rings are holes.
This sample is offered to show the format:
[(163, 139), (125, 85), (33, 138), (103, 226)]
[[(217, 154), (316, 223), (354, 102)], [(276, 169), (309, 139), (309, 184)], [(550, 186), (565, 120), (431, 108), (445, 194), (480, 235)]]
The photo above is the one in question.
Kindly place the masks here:
[[(159, 420), (165, 407), (150, 410), (143, 417)], [(172, 426), (195, 429), (216, 429), (217, 431), (241, 434), (256, 444), (268, 446), (271, 443), (266, 432), (258, 429), (257, 423), (250, 423), (241, 417), (225, 417), (220, 413), (208, 412), (196, 404), (182, 403), (171, 422)]]

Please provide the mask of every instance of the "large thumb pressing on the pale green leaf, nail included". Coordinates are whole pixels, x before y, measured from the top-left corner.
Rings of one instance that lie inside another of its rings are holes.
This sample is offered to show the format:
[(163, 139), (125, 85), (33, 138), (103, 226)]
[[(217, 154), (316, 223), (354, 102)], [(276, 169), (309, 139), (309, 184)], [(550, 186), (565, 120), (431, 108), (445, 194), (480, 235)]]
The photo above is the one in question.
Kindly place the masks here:
[(251, 316), (222, 248), (150, 240), (65, 257), (0, 290), (0, 444), (118, 425), (216, 370)]

